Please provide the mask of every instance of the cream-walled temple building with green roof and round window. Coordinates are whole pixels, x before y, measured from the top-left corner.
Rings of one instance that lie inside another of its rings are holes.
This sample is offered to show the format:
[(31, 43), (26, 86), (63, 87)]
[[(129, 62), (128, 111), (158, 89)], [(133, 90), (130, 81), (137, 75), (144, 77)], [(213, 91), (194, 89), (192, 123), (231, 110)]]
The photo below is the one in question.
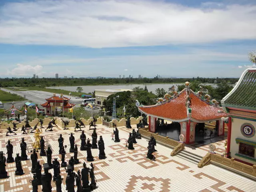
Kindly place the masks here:
[(227, 153), (238, 161), (256, 163), (256, 68), (246, 69), (221, 101), (228, 113)]

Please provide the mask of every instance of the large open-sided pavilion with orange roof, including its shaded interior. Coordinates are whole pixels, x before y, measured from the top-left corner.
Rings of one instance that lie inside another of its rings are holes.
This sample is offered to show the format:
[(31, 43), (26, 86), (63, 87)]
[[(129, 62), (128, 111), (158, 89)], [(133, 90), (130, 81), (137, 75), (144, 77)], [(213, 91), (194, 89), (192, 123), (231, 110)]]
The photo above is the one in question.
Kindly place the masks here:
[[(210, 101), (208, 94), (203, 96), (201, 90), (196, 94), (190, 89), (189, 82), (185, 85), (180, 93), (173, 87), (172, 95), (166, 94), (156, 105), (142, 106), (136, 103), (138, 110), (149, 116), (149, 131), (186, 144), (224, 136), (226, 112), (216, 100)], [(167, 124), (164, 120), (172, 123)], [(159, 127), (161, 129), (156, 130)]]

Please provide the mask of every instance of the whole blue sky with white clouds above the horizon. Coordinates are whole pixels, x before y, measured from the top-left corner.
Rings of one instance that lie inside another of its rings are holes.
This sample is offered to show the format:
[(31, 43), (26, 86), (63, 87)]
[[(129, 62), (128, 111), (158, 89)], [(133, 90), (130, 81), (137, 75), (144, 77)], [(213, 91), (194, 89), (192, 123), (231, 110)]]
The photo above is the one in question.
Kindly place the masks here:
[(255, 0), (0, 0), (0, 78), (240, 77)]

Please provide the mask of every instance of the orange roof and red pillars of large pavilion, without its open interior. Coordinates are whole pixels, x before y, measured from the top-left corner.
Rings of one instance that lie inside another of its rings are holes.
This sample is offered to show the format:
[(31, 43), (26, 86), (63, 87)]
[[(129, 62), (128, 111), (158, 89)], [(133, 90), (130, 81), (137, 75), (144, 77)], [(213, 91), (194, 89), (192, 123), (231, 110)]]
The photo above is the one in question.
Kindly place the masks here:
[[(172, 96), (165, 95), (165, 100), (160, 99), (159, 103), (152, 106), (142, 106), (136, 103), (138, 110), (149, 116), (149, 131), (156, 132), (157, 119), (179, 122), (180, 140), (186, 144), (195, 142), (195, 128), (198, 123), (216, 121), (218, 136), (224, 135), (224, 120), (227, 114), (217, 105), (216, 100), (210, 101), (210, 96), (202, 96), (190, 89), (190, 83), (180, 93), (174, 90)], [(206, 98), (204, 100), (203, 98)]]

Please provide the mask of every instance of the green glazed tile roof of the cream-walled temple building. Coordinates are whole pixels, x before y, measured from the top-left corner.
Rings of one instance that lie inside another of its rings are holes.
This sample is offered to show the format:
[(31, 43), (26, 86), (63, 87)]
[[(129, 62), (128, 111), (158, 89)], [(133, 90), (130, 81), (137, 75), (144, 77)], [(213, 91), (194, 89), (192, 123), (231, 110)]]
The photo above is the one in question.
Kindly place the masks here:
[(240, 77), (238, 85), (224, 98), (224, 106), (256, 110), (256, 69)]

